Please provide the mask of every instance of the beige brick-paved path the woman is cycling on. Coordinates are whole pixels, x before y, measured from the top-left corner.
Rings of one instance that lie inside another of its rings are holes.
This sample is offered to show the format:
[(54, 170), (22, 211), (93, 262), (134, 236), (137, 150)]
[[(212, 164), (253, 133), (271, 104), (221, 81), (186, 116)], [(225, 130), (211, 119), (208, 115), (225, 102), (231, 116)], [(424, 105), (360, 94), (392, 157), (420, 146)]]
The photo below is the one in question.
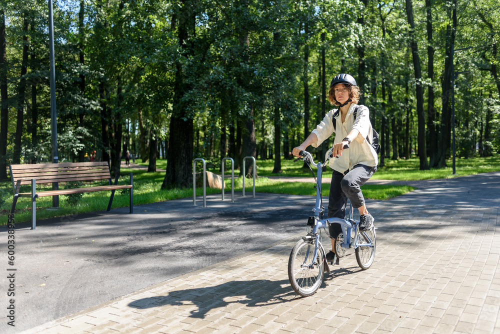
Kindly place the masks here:
[(500, 333), (498, 198), (500, 172), (369, 202), (373, 265), (341, 258), (310, 297), (287, 277), (301, 233), (25, 332)]

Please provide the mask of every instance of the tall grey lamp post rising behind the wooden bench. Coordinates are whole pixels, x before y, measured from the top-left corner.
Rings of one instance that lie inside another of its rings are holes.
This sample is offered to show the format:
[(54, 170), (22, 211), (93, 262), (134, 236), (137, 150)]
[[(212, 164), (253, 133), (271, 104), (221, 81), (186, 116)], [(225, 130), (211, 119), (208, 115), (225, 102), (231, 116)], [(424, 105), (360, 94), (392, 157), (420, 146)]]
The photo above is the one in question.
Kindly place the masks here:
[[(55, 56), (54, 56), (54, 17), (52, 0), (48, 0), (48, 34), (50, 51), (50, 125), (52, 128), (52, 162), (58, 163), (57, 156), (57, 109), (55, 107)], [(57, 190), (59, 183), (52, 183), (52, 189)], [(59, 196), (52, 196), (52, 207), (59, 207)]]

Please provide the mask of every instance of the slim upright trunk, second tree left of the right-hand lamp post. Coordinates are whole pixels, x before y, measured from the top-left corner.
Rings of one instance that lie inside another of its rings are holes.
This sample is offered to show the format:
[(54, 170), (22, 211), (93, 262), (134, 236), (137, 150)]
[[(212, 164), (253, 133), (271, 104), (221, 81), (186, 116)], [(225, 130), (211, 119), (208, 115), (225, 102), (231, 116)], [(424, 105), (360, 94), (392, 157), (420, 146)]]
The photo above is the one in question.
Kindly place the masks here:
[(435, 108), (434, 108), (434, 46), (432, 45), (432, 11), (430, 0), (425, 0), (425, 11), (427, 14), (427, 76), (430, 83), (427, 85), (427, 128), (429, 129), (429, 166), (437, 165), (437, 136), (435, 128)]

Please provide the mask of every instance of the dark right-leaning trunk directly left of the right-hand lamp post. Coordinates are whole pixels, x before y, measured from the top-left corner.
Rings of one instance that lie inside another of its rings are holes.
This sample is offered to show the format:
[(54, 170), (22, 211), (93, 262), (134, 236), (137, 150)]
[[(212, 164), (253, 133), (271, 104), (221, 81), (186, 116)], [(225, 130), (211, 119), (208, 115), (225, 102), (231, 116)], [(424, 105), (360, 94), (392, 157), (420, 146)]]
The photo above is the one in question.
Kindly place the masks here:
[(451, 131), (451, 75), (452, 73), (452, 54), (451, 50), (455, 42), (456, 32), (456, 0), (452, 2), (452, 26), (446, 27), (446, 57), (444, 60), (444, 77), (442, 80), (442, 111), (441, 111), (441, 126), (439, 131), (439, 140), (437, 146), (437, 161), (438, 168), (446, 167), (446, 156), (450, 148), (450, 131)]

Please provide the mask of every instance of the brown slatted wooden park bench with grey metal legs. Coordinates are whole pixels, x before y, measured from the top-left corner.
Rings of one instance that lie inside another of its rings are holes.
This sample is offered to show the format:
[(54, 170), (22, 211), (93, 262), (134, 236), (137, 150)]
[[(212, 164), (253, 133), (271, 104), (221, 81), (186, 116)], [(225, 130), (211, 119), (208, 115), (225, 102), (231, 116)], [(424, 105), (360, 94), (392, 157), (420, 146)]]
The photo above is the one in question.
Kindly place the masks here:
[[(111, 173), (107, 162), (60, 162), (37, 164), (11, 164), (10, 177), (14, 188), (14, 197), (10, 213), (14, 213), (15, 204), (19, 197), (31, 197), (31, 224), (36, 226), (36, 198), (43, 196), (67, 195), (72, 193), (111, 190), (111, 197), (107, 211), (111, 209), (114, 191), (116, 189), (130, 189), (130, 213), (133, 213), (133, 176), (130, 173), (130, 184), (118, 184), (118, 176), (111, 182)], [(36, 184), (108, 180), (108, 185), (92, 185), (81, 188), (36, 191)], [(21, 185), (31, 184), (31, 192), (19, 192)]]

